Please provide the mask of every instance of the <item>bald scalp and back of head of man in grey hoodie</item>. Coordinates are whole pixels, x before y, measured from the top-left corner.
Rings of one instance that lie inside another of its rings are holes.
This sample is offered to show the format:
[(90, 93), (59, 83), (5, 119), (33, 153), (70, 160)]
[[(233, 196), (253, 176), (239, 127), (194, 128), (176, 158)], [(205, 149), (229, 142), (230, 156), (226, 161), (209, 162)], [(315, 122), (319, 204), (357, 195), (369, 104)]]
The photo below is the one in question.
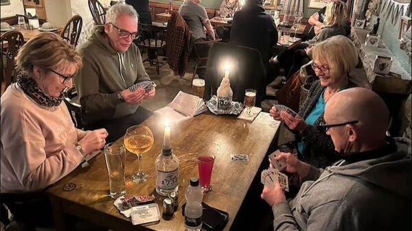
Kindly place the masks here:
[(389, 110), (385, 102), (366, 88), (349, 88), (331, 97), (325, 107), (326, 123), (356, 123), (358, 142), (385, 142)]

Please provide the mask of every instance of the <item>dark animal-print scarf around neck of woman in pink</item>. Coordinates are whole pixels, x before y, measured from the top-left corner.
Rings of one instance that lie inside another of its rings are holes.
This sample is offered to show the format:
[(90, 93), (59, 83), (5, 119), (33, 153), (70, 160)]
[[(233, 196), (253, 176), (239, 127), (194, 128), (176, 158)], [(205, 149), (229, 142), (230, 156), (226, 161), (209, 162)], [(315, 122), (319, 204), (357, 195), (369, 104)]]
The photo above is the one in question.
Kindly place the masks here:
[(52, 108), (53, 106), (59, 106), (62, 102), (63, 93), (61, 93), (59, 97), (48, 96), (43, 92), (43, 90), (38, 88), (36, 82), (34, 82), (34, 80), (27, 75), (17, 75), (17, 83), (26, 95), (30, 96), (30, 98), (41, 106)]

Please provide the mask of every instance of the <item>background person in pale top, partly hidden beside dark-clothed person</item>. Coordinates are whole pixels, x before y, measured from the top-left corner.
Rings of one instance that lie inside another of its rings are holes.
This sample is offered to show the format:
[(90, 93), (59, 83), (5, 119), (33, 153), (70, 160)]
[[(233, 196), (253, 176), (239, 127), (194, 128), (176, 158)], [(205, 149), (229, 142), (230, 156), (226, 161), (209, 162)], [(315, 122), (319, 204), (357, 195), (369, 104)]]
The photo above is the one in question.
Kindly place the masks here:
[[(235, 13), (242, 8), (239, 0), (223, 0), (220, 4), (219, 16), (224, 18), (233, 18)], [(216, 27), (216, 34), (225, 42), (229, 42), (230, 27)]]

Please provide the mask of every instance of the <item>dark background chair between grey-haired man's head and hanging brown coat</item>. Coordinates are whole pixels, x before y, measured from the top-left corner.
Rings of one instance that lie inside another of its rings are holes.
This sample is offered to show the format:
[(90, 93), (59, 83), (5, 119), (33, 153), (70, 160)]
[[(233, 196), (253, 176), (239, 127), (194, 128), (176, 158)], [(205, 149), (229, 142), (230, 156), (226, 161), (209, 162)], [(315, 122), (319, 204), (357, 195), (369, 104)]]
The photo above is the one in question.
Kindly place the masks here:
[[(159, 75), (159, 68), (166, 64), (166, 62), (159, 62), (159, 56), (165, 56), (165, 27), (157, 25), (139, 24), (139, 39), (137, 40), (137, 47), (141, 53), (146, 49), (148, 51), (148, 58), (145, 61), (150, 61), (156, 65), (156, 71)], [(154, 57), (150, 57), (154, 56)]]

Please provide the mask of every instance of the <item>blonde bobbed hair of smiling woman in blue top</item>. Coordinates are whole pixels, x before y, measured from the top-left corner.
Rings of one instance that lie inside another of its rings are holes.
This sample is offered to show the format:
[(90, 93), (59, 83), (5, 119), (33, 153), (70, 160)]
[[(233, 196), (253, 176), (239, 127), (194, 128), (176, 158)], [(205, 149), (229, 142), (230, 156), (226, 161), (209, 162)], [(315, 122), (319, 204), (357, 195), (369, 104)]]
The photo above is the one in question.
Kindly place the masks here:
[(332, 82), (347, 76), (358, 64), (358, 51), (354, 43), (345, 36), (333, 36), (312, 47), (313, 60), (329, 64)]

